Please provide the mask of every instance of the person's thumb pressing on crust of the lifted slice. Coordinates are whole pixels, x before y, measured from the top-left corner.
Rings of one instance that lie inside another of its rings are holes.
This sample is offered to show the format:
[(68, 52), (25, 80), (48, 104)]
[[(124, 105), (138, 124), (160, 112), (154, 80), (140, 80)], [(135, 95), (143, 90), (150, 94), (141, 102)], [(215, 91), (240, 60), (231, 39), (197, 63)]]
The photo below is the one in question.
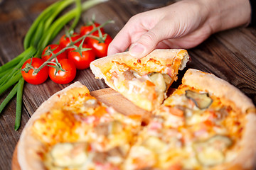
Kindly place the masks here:
[(129, 54), (136, 58), (142, 58), (153, 51), (159, 42), (168, 38), (167, 35), (170, 30), (167, 30), (166, 28), (168, 28), (168, 26), (166, 27), (164, 25), (159, 23), (157, 26), (144, 33), (137, 42), (134, 42), (130, 46)]

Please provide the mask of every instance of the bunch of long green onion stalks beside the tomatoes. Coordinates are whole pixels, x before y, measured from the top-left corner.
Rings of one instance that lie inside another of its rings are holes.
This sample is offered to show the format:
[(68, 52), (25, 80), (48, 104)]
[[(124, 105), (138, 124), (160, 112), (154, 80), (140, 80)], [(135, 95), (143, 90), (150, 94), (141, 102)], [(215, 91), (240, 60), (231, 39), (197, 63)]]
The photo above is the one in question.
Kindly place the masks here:
[[(81, 3), (81, 0), (60, 0), (48, 6), (33, 22), (31, 28), (23, 41), (24, 51), (10, 62), (0, 67), (0, 95), (5, 91), (11, 91), (0, 105), (0, 113), (4, 107), (16, 95), (16, 119), (14, 130), (18, 130), (21, 124), (22, 95), (24, 79), (21, 76), (21, 67), (23, 63), (31, 57), (39, 57), (42, 50), (54, 40), (56, 35), (70, 21), (73, 21), (70, 30), (77, 26), (82, 11), (100, 4), (107, 0), (87, 0)], [(75, 8), (59, 16), (68, 6), (75, 4)], [(53, 56), (55, 57), (55, 55)]]

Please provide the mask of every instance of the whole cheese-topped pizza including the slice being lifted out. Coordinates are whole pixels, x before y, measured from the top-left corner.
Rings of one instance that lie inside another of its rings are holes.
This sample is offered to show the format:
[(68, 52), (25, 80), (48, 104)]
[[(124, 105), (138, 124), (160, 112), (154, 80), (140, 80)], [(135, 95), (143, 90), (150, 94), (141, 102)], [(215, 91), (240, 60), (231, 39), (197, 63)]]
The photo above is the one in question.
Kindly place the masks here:
[(118, 113), (75, 82), (28, 120), (18, 142), (21, 169), (254, 169), (254, 104), (227, 81), (196, 69), (167, 93), (186, 62), (186, 50), (95, 60), (95, 77), (150, 115)]

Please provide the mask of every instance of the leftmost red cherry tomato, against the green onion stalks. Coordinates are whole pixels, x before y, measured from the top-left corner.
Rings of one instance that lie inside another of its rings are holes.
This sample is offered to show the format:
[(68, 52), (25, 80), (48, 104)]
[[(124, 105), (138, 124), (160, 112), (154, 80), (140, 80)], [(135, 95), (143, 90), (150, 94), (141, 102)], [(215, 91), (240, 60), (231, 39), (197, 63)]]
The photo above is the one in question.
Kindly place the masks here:
[[(24, 62), (21, 69), (24, 69), (27, 63), (30, 63), (35, 69), (38, 69), (38, 67), (40, 67), (43, 64), (43, 60), (41, 60), (40, 58), (28, 59), (26, 60), (26, 62)], [(21, 75), (23, 79), (25, 79), (25, 81), (27, 81), (30, 84), (42, 84), (48, 78), (48, 66), (43, 67), (38, 72), (38, 74), (33, 74), (33, 69), (30, 69), (27, 73), (21, 71)]]

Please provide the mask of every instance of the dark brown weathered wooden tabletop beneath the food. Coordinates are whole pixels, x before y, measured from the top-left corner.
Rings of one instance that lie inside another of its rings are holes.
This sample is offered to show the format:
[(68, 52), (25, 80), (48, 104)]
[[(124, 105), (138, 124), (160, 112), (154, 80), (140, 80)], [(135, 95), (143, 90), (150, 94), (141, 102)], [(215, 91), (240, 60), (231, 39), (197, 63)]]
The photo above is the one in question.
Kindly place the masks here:
[[(6, 0), (0, 4), (0, 65), (23, 52), (23, 38), (26, 31), (36, 16), (53, 2), (54, 0)], [(149, 9), (138, 5), (135, 0), (110, 0), (82, 13), (82, 19), (77, 28), (95, 14), (96, 21), (100, 23), (110, 19), (115, 21), (114, 24), (105, 27), (106, 32), (114, 38), (131, 16)], [(58, 35), (55, 42), (63, 33)], [(255, 28), (235, 28), (216, 33), (188, 52), (191, 62), (187, 68), (200, 69), (225, 79), (256, 103)], [(180, 72), (180, 75), (185, 71)], [(74, 81), (85, 84), (90, 91), (107, 87), (102, 80), (94, 78), (90, 69), (78, 71)], [(181, 76), (173, 87), (178, 86), (180, 81)], [(8, 104), (0, 115), (0, 169), (11, 169), (11, 157), (16, 143), (24, 125), (36, 108), (52, 94), (68, 85), (55, 84), (50, 79), (37, 86), (25, 84), (21, 128), (18, 131), (14, 130), (16, 98)], [(8, 92), (0, 96), (0, 103)]]

